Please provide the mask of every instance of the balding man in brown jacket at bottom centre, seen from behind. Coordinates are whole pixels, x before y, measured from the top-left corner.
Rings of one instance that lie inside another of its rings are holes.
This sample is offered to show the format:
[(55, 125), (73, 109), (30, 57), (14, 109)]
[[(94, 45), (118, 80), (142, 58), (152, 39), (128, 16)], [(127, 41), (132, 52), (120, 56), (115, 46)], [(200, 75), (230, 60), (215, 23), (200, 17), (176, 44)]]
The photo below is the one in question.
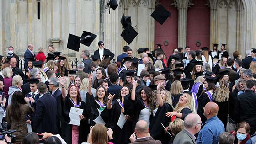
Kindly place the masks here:
[(148, 123), (144, 120), (139, 120), (136, 123), (135, 132), (131, 135), (130, 141), (130, 144), (162, 144), (150, 136)]

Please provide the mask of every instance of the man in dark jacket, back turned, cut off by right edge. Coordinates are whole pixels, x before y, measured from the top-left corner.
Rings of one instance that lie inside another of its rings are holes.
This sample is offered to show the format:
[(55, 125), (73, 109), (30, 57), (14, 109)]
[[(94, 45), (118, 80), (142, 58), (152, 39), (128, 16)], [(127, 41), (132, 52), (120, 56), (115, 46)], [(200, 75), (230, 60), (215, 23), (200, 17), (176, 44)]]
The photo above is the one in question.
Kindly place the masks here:
[(235, 118), (236, 122), (240, 123), (245, 121), (251, 126), (250, 135), (255, 133), (256, 130), (256, 93), (255, 91), (255, 80), (247, 80), (247, 89), (245, 93), (237, 96), (235, 101)]

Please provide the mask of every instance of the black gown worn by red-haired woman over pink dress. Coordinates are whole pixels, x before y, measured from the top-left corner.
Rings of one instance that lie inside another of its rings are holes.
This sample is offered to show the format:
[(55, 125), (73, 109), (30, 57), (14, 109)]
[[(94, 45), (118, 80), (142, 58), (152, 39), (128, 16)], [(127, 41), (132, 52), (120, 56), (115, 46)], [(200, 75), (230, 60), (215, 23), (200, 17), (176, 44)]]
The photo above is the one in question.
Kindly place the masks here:
[[(83, 116), (87, 117), (86, 110), (85, 110), (85, 102), (80, 101), (80, 106), (77, 108), (83, 109)], [(67, 96), (64, 105), (63, 105), (63, 117), (65, 121), (61, 122), (61, 137), (67, 142), (68, 144), (72, 144), (72, 124), (68, 124), (70, 122), (69, 118), (69, 112), (71, 107), (74, 107), (74, 104), (72, 103), (71, 99)], [(80, 121), (79, 125), (79, 138), (78, 138), (78, 144), (81, 144), (82, 142), (85, 142), (87, 140), (87, 135), (90, 132), (90, 128), (88, 125), (88, 120)]]

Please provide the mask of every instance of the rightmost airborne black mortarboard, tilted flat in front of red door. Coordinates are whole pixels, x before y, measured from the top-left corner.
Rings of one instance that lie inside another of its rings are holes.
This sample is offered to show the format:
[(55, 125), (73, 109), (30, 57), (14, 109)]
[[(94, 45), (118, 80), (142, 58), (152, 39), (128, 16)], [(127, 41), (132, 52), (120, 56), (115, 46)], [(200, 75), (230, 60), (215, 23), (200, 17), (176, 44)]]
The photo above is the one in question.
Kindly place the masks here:
[(162, 25), (165, 20), (171, 16), (171, 13), (167, 11), (162, 5), (158, 5), (151, 16)]

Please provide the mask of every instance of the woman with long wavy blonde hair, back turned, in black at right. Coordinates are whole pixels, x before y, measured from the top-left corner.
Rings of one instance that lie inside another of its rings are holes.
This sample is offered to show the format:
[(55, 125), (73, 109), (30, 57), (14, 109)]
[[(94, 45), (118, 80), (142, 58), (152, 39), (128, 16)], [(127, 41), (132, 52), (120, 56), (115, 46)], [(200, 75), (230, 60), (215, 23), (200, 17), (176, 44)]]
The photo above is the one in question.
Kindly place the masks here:
[[(224, 124), (224, 128), (227, 126), (227, 115), (231, 119), (234, 119), (235, 108), (235, 96), (232, 92), (229, 92), (228, 82), (225, 80), (219, 81), (219, 87), (213, 94), (213, 102), (219, 106), (217, 117)], [(229, 112), (229, 113), (228, 113)]]

